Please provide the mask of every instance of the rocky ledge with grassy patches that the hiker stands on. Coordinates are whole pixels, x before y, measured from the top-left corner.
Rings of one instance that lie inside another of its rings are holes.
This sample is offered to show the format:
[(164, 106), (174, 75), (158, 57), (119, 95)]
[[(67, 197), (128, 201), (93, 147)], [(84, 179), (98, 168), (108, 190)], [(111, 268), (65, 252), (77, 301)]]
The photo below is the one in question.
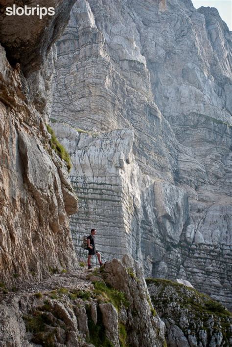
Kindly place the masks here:
[(0, 346), (164, 345), (164, 324), (129, 257), (18, 289), (0, 304)]

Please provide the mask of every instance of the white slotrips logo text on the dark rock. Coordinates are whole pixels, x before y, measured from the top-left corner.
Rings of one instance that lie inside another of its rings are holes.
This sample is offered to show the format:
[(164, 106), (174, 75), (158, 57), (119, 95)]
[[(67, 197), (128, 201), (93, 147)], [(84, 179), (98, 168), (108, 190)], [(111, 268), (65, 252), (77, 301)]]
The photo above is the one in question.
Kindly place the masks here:
[(12, 7), (6, 7), (6, 16), (39, 16), (42, 19), (44, 16), (54, 16), (54, 7), (40, 7), (36, 5), (35, 7), (28, 7), (24, 5), (23, 7), (17, 7), (15, 4)]

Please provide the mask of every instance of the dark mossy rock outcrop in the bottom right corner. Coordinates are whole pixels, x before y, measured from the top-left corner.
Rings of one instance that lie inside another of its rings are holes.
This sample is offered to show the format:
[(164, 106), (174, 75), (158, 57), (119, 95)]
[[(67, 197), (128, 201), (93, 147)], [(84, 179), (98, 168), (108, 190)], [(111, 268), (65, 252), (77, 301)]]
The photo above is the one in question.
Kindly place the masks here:
[(165, 323), (167, 346), (231, 346), (232, 315), (193, 288), (167, 280), (146, 280), (152, 304)]

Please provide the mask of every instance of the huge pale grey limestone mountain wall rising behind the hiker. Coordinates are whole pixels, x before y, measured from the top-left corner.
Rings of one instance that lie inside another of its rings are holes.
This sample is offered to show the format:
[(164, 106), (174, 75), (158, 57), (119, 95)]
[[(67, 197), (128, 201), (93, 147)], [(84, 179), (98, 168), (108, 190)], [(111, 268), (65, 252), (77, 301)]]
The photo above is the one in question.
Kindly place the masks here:
[(230, 303), (231, 33), (218, 12), (77, 0), (56, 46), (52, 118), (93, 132), (56, 125), (82, 201), (73, 234), (94, 224), (103, 252), (127, 248), (147, 275)]

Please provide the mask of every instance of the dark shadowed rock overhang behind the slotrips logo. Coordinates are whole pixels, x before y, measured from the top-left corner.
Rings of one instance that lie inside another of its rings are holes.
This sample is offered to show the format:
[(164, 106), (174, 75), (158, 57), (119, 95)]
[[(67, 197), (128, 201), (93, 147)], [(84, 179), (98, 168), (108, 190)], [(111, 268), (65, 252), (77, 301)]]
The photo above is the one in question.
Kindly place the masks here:
[[(2, 1), (1, 1), (2, 2)], [(75, 0), (3, 1), (0, 17), (0, 42), (6, 50), (7, 59), (13, 65), (20, 63), (28, 77), (41, 68), (48, 50), (65, 29)], [(54, 7), (54, 16), (7, 16), (6, 7)]]

